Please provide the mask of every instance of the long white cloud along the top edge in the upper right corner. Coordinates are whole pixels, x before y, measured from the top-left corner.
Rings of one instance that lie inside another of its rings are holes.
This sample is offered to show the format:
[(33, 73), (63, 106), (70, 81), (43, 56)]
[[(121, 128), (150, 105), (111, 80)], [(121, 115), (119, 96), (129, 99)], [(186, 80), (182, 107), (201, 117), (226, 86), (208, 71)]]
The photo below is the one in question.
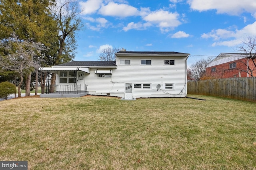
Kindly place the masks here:
[(255, 0), (188, 0), (190, 8), (200, 12), (217, 10), (218, 14), (239, 15), (242, 12), (254, 14), (256, 11)]

